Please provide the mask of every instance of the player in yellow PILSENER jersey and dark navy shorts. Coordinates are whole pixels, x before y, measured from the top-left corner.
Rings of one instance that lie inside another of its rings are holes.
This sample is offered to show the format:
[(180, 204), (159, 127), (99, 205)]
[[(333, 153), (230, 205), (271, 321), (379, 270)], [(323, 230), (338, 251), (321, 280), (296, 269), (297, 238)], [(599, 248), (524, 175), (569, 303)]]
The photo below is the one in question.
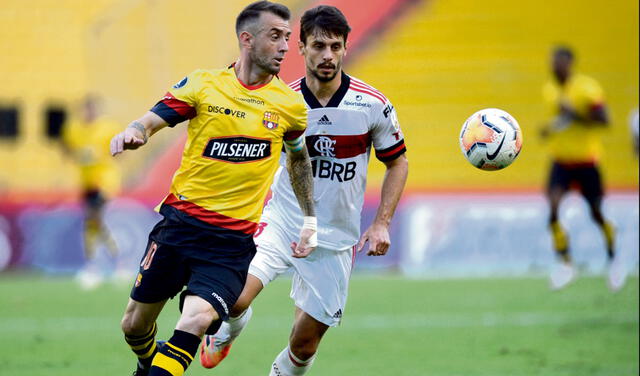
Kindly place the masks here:
[[(180, 168), (160, 207), (164, 219), (149, 235), (122, 319), (138, 357), (135, 375), (182, 375), (202, 336), (228, 318), (256, 252), (253, 233), (283, 146), (304, 213), (292, 255), (306, 257), (317, 244), (306, 107), (276, 76), (288, 51), (289, 19), (283, 5), (248, 5), (236, 19), (234, 64), (189, 74), (111, 141), (115, 155), (190, 120)], [(174, 334), (158, 348), (156, 319), (184, 286)]]

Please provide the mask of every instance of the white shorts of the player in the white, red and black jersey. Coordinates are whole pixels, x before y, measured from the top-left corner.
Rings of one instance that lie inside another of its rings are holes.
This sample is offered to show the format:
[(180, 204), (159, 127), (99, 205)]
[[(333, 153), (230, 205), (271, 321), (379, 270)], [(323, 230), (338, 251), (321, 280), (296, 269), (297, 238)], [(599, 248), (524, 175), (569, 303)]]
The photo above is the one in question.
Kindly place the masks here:
[(291, 298), (295, 305), (328, 326), (340, 323), (347, 302), (355, 247), (331, 250), (318, 247), (306, 258), (291, 256), (292, 236), (275, 223), (263, 225), (255, 240), (258, 252), (249, 273), (263, 286), (293, 269)]

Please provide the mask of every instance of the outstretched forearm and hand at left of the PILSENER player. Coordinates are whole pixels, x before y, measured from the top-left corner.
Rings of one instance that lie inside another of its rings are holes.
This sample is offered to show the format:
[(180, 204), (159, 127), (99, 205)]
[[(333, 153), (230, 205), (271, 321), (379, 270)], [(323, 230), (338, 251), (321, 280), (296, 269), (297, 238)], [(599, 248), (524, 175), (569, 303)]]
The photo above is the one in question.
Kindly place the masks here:
[(168, 124), (160, 116), (149, 111), (140, 119), (134, 120), (124, 131), (111, 139), (111, 155), (118, 155), (124, 150), (135, 150), (147, 143), (149, 137)]

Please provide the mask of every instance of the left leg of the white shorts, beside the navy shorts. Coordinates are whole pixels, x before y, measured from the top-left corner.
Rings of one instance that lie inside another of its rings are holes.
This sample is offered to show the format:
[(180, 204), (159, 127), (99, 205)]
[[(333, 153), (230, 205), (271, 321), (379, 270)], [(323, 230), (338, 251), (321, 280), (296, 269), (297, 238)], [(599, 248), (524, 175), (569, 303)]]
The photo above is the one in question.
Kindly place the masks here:
[(256, 255), (251, 260), (249, 274), (264, 287), (291, 267), (290, 245), (295, 239), (277, 225), (262, 222), (260, 226), (262, 231), (254, 238)]

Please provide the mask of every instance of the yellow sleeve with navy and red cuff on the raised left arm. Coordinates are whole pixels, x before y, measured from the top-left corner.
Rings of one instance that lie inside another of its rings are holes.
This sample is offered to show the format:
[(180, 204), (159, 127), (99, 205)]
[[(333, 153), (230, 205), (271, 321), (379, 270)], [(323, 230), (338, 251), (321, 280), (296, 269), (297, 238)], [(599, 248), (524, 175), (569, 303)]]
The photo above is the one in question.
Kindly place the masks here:
[(151, 112), (160, 116), (170, 127), (197, 115), (196, 108), (202, 87), (200, 70), (194, 71), (173, 85)]

